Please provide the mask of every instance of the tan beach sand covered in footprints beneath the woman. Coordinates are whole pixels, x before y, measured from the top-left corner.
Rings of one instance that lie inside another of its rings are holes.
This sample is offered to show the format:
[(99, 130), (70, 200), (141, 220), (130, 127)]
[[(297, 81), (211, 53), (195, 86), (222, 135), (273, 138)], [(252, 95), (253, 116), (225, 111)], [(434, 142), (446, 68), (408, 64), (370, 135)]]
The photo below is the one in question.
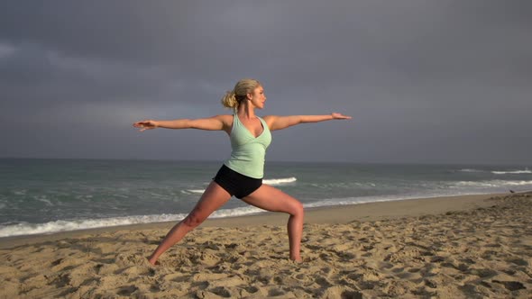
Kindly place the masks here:
[(0, 240), (0, 298), (530, 298), (532, 194), (307, 210), (303, 263), (287, 215), (209, 220), (163, 254), (173, 223)]

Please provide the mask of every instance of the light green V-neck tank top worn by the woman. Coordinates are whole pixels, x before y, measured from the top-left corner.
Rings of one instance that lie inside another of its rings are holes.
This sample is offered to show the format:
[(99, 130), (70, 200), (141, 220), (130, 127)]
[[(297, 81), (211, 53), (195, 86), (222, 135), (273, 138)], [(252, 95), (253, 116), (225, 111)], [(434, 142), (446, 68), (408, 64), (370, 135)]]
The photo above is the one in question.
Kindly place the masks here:
[(252, 135), (236, 113), (233, 117), (231, 130), (231, 158), (225, 161), (225, 166), (241, 175), (253, 178), (264, 177), (264, 158), (266, 149), (271, 143), (271, 131), (266, 122), (257, 116), (262, 123), (262, 133), (256, 138)]

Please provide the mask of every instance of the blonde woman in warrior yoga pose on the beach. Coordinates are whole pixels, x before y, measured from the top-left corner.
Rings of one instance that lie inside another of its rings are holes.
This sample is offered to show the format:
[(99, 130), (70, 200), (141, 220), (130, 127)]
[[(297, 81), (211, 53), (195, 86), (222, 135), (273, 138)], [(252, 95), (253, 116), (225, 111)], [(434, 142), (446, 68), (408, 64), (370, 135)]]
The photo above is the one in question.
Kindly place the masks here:
[(262, 109), (266, 96), (264, 88), (254, 79), (242, 79), (233, 91), (227, 92), (222, 104), (234, 108), (233, 115), (216, 115), (210, 118), (175, 121), (142, 121), (133, 126), (140, 131), (155, 128), (201, 129), (225, 131), (231, 140), (231, 157), (227, 159), (206, 187), (192, 212), (176, 224), (151, 254), (149, 261), (155, 265), (161, 254), (196, 228), (232, 195), (261, 209), (289, 213), (288, 232), (290, 259), (301, 261), (299, 255), (303, 231), (303, 205), (294, 197), (272, 186), (262, 184), (264, 156), (271, 142), (270, 131), (281, 130), (304, 122), (350, 119), (340, 113), (328, 115), (264, 116), (255, 115)]

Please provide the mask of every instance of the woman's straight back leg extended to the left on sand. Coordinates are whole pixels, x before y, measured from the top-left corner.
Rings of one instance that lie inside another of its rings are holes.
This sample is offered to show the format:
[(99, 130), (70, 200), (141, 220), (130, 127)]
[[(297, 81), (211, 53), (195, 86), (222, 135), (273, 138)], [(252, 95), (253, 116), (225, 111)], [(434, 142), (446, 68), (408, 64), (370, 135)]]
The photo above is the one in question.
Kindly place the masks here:
[(185, 219), (176, 224), (168, 232), (164, 240), (159, 244), (159, 247), (157, 247), (157, 249), (151, 254), (151, 257), (148, 258), (150, 264), (155, 265), (155, 262), (164, 251), (170, 249), (172, 245), (183, 239), (188, 231), (192, 231), (201, 224), (201, 222), (204, 222), (211, 213), (224, 205), (230, 198), (231, 195), (229, 195), (224, 188), (215, 182), (211, 182), (211, 184), (206, 187), (205, 192), (201, 195), (201, 198), (192, 212), (188, 213), (188, 216)]

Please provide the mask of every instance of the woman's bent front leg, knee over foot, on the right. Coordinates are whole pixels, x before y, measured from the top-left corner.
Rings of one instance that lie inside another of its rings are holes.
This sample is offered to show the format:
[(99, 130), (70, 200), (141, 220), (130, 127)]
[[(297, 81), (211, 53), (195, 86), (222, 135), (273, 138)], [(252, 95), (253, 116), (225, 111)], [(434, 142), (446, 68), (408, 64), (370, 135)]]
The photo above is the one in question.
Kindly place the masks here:
[(300, 261), (299, 251), (301, 248), (301, 237), (303, 234), (303, 204), (294, 197), (276, 189), (272, 186), (262, 185), (251, 195), (242, 199), (247, 204), (252, 204), (263, 210), (271, 212), (289, 213), (287, 225), (289, 231), (290, 259)]

